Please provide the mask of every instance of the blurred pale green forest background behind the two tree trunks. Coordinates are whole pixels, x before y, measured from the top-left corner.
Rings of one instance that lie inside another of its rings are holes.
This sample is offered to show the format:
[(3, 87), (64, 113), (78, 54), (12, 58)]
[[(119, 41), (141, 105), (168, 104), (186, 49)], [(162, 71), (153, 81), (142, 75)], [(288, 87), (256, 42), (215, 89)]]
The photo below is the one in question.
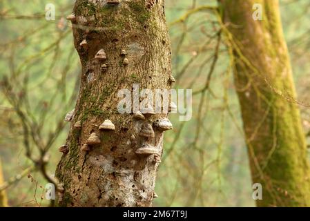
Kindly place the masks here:
[[(271, 0), (272, 1), (272, 0)], [(46, 21), (47, 3), (56, 20)], [(80, 62), (66, 16), (72, 0), (0, 1), (0, 157), (10, 206), (48, 206), (75, 106)], [(207, 7), (206, 7), (207, 6)], [(193, 119), (165, 134), (154, 206), (255, 206), (240, 108), (213, 0), (166, 0), (175, 88), (193, 89)], [(310, 98), (310, 3), (281, 0), (298, 100)], [(211, 80), (209, 73), (212, 72)], [(206, 86), (208, 85), (208, 86)], [(300, 106), (304, 132), (310, 109)], [(308, 133), (308, 144), (310, 137)], [(47, 161), (47, 167), (35, 166)], [(1, 181), (1, 175), (0, 175)]]

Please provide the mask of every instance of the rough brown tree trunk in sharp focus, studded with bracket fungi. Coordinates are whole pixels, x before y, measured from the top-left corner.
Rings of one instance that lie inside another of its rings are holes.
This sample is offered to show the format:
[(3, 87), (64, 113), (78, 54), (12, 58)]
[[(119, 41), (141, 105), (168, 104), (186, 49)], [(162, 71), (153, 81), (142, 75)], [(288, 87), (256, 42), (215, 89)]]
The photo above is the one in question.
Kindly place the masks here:
[[(133, 84), (140, 89), (171, 88), (164, 0), (108, 2), (77, 0), (75, 16), (68, 18), (82, 70), (68, 153), (64, 146), (56, 171), (64, 187), (59, 206), (151, 206), (153, 201), (163, 143), (163, 133), (153, 122), (167, 114), (145, 115), (145, 119), (120, 114), (117, 93), (122, 88), (133, 92)], [(99, 131), (106, 119), (115, 131), (111, 127)], [(139, 136), (146, 124), (153, 126), (155, 137)], [(90, 144), (91, 134), (100, 143)], [(137, 149), (145, 144), (157, 148), (159, 155), (139, 154)]]

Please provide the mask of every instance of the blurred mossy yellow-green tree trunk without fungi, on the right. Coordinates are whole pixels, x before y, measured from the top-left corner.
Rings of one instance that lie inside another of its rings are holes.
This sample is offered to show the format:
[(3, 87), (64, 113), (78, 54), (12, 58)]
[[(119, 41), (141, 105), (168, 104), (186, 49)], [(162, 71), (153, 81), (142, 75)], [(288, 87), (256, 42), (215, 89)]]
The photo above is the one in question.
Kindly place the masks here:
[[(310, 206), (309, 160), (278, 0), (220, 2), (232, 34), (252, 180), (262, 184), (257, 205)], [(262, 21), (252, 18), (255, 3)]]

